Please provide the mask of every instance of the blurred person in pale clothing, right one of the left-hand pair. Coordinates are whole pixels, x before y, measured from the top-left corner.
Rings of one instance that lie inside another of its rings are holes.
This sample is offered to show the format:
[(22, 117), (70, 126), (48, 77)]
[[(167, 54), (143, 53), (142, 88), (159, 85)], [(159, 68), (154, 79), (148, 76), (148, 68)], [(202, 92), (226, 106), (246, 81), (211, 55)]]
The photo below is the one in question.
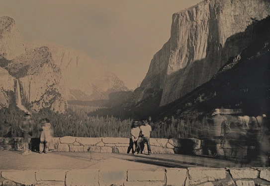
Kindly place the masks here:
[[(40, 144), (39, 144), (39, 153), (42, 152), (48, 153), (49, 151), (49, 143), (52, 141), (52, 125), (50, 124), (50, 120), (45, 118), (41, 122), (42, 132), (40, 135)], [(44, 147), (45, 146), (45, 147)]]

